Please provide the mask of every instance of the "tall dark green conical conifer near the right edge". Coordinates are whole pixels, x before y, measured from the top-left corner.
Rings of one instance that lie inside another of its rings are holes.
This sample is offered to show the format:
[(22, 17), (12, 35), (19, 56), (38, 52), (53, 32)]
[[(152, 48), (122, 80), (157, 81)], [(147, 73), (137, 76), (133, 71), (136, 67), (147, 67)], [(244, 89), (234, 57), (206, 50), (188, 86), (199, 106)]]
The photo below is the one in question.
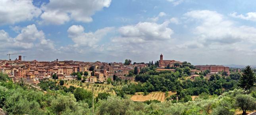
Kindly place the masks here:
[(248, 65), (243, 69), (242, 77), (239, 80), (239, 86), (244, 90), (248, 91), (254, 83), (256, 82), (256, 77), (252, 68)]

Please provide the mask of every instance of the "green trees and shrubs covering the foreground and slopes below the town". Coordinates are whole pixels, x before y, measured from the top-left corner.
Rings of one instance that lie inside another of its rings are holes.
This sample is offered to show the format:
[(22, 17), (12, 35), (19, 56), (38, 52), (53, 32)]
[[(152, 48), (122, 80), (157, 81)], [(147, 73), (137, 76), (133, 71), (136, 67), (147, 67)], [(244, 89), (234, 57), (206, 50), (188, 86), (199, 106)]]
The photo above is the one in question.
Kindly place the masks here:
[[(184, 75), (179, 77), (180, 74), (178, 71), (156, 73), (150, 69), (139, 74), (146, 81), (109, 82), (113, 84), (116, 96), (99, 92), (94, 95), (92, 107), (92, 92), (83, 85), (81, 88), (66, 87), (67, 82), (43, 81), (40, 87), (47, 92), (42, 92), (23, 82), (13, 83), (7, 75), (0, 73), (0, 108), (11, 115), (245, 115), (256, 109), (255, 74), (250, 67), (243, 70), (239, 79), (213, 75), (209, 80), (198, 77), (190, 81), (183, 79)], [(177, 91), (177, 94), (167, 92), (168, 98), (164, 102), (133, 102), (129, 99), (127, 94), (139, 90), (144, 90), (140, 93), (143, 95), (169, 90)], [(191, 96), (195, 94), (198, 97), (192, 101)]]

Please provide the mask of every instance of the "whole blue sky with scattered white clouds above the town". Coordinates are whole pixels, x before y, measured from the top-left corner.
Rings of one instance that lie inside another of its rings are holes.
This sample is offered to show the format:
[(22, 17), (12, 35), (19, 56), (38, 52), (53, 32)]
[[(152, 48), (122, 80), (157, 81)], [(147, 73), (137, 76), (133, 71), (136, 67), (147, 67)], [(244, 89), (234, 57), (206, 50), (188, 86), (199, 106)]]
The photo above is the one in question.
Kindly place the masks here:
[[(0, 0), (0, 59), (256, 65), (254, 0)], [(18, 55), (11, 55), (12, 59)]]

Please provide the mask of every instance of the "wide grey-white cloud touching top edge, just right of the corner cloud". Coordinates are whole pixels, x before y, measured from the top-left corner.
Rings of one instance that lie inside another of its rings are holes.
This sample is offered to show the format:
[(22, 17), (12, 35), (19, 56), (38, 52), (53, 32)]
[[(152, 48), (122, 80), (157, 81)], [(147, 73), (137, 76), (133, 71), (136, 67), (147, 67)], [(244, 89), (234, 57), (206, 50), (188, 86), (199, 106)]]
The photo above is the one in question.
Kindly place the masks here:
[(88, 23), (95, 12), (108, 8), (110, 3), (111, 0), (50, 0), (42, 5), (39, 23), (61, 25), (70, 19)]

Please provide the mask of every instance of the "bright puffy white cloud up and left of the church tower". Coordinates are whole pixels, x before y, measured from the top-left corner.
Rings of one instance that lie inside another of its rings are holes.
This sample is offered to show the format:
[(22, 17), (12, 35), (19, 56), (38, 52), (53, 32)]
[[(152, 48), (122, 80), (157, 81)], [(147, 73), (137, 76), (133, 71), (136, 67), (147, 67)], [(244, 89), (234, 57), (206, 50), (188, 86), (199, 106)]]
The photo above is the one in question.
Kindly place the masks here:
[(173, 30), (168, 28), (169, 21), (162, 24), (140, 22), (136, 25), (127, 25), (118, 29), (121, 36), (113, 38), (113, 42), (145, 43), (155, 40), (171, 39)]

